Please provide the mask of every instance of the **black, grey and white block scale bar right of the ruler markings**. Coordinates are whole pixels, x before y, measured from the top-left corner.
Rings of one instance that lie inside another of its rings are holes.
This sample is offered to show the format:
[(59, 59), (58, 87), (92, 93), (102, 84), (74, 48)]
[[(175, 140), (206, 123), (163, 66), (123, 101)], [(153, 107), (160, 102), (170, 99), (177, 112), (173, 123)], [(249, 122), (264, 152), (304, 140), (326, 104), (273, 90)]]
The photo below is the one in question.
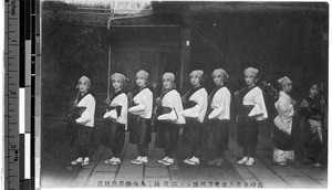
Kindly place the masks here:
[(20, 189), (31, 189), (31, 1), (20, 1)]

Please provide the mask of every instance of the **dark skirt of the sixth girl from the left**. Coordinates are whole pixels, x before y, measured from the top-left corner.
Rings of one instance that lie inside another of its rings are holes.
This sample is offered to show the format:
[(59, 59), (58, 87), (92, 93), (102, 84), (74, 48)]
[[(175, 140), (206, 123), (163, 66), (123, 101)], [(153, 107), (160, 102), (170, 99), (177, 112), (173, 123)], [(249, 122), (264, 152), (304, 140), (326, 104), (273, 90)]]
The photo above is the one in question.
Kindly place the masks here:
[(229, 120), (209, 119), (204, 127), (205, 145), (214, 150), (225, 151), (229, 141)]

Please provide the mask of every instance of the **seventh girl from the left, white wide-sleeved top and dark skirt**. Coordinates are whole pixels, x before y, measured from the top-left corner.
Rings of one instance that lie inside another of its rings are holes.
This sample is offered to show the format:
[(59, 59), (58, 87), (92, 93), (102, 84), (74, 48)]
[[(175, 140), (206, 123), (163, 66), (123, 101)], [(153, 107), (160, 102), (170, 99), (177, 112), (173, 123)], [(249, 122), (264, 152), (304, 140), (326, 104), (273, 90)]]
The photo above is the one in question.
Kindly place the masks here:
[(239, 165), (252, 166), (255, 163), (256, 146), (258, 141), (258, 120), (267, 119), (262, 91), (256, 86), (258, 70), (248, 67), (245, 70), (247, 86), (235, 93), (237, 103), (237, 142), (242, 147), (243, 158)]

